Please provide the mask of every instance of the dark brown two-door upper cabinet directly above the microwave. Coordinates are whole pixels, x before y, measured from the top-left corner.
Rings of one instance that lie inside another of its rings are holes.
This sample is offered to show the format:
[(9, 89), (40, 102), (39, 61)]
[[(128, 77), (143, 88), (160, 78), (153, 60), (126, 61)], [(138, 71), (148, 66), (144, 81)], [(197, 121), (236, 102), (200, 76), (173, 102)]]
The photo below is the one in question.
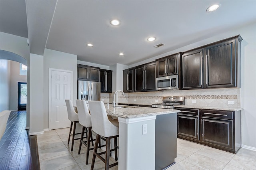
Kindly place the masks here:
[(181, 55), (182, 53), (180, 52), (177, 54), (157, 59), (157, 77), (179, 74)]

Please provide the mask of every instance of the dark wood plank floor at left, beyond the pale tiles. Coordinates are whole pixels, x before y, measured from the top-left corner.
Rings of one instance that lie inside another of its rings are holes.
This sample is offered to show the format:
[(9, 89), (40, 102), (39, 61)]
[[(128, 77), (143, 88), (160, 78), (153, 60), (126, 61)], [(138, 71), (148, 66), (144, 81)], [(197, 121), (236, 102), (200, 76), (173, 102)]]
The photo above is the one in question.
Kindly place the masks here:
[(36, 135), (25, 128), (26, 111), (12, 111), (0, 140), (0, 170), (40, 169)]

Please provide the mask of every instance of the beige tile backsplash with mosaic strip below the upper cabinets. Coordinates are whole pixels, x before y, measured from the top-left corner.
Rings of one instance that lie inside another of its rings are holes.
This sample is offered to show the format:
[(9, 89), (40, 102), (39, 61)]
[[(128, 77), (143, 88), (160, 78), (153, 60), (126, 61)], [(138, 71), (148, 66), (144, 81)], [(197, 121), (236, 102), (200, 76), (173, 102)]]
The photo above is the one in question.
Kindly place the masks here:
[[(240, 88), (223, 89), (197, 89), (197, 90), (165, 90), (152, 92), (125, 93), (118, 94), (120, 103), (162, 103), (165, 96), (184, 96), (185, 105), (209, 106), (209, 107), (241, 107)], [(112, 103), (114, 93), (101, 93), (101, 100), (104, 103)], [(193, 103), (192, 103), (193, 101)], [(234, 102), (234, 104), (228, 104)]]

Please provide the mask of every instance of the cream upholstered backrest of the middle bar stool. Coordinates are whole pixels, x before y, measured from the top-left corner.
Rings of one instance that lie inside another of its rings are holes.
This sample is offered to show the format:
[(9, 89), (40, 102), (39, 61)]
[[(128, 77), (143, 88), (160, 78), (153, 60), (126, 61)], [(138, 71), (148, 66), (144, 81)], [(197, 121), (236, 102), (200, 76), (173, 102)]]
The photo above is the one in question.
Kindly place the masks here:
[(84, 100), (76, 100), (78, 121), (84, 127), (92, 127), (91, 115)]

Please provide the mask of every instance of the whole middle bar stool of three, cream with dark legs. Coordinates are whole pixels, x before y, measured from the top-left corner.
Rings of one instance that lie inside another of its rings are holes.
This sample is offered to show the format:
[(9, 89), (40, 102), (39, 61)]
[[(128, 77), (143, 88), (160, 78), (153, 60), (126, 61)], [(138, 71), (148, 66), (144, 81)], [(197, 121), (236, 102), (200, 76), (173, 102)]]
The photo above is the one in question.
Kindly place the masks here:
[[(78, 111), (78, 121), (79, 121), (80, 125), (83, 126), (78, 154), (80, 154), (81, 146), (82, 146), (82, 144), (84, 144), (87, 147), (87, 149), (86, 149), (86, 162), (85, 162), (85, 164), (87, 165), (88, 164), (88, 158), (89, 158), (89, 151), (94, 149), (94, 147), (90, 148), (90, 142), (92, 142), (92, 146), (94, 146), (93, 141), (95, 140), (95, 139), (93, 140), (93, 138), (92, 138), (91, 115), (89, 113), (87, 104), (84, 100), (76, 100), (76, 107), (77, 107), (77, 111)], [(87, 134), (87, 132), (88, 132), (88, 134)], [(85, 137), (86, 141), (83, 140), (84, 139), (84, 133), (86, 133), (86, 137)]]

